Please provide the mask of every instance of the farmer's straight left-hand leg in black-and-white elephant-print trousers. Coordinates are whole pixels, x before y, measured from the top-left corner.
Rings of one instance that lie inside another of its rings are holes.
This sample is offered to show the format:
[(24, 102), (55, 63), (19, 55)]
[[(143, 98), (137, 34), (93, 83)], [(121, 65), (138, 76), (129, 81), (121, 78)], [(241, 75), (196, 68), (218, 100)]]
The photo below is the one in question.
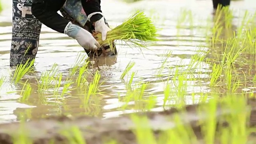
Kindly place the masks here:
[(31, 12), (32, 0), (12, 0), (12, 44), (10, 66), (25, 64), (36, 57), (41, 22)]

